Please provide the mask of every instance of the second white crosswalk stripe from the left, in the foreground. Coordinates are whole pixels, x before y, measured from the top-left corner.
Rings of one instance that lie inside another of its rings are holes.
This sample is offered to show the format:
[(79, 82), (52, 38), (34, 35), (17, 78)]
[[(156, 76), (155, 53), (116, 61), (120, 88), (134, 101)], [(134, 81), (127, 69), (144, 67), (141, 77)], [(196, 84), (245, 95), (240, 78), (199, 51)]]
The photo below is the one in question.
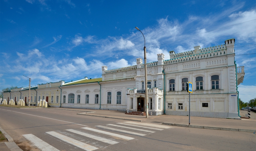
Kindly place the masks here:
[(72, 139), (72, 138), (70, 138), (68, 136), (62, 135), (62, 134), (57, 133), (57, 132), (51, 131), (51, 132), (46, 132), (46, 133), (50, 134), (50, 135), (52, 135), (54, 137), (57, 137), (58, 139), (60, 139), (62, 141), (65, 141), (65, 142), (67, 142), (69, 144), (72, 144), (72, 145), (74, 145), (76, 147), (82, 148), (82, 149), (84, 149), (86, 151), (92, 151), (92, 150), (98, 149), (97, 147), (93, 147), (91, 145), (85, 144), (85, 143), (83, 143), (81, 141)]

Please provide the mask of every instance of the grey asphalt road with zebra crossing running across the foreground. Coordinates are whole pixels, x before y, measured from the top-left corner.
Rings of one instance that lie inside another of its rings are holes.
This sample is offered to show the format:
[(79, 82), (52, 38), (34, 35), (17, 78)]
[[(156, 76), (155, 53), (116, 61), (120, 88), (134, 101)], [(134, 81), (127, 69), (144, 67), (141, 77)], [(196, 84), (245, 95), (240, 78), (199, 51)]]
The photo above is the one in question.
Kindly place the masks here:
[(138, 125), (138, 122), (81, 116), (76, 113), (80, 112), (0, 107), (0, 126), (24, 151), (255, 151), (256, 147), (256, 136), (251, 132), (142, 122), (139, 124), (143, 125)]

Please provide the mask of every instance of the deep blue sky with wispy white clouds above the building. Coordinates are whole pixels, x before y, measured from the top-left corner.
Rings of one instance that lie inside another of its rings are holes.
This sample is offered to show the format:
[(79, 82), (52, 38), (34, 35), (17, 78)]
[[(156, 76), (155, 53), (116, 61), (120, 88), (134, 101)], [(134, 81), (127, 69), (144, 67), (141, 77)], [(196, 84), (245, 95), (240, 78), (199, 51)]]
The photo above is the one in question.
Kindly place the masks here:
[[(255, 1), (0, 3), (1, 89), (28, 86), (23, 74), (36, 86), (85, 76), (98, 78), (102, 65), (108, 69), (135, 65), (136, 58), (143, 58), (144, 47), (144, 39), (135, 26), (145, 35), (148, 62), (156, 61), (158, 53), (168, 59), (171, 50), (179, 53), (198, 45), (221, 45), (230, 38), (236, 39), (236, 55), (255, 53), (256, 49)], [(211, 30), (214, 31), (208, 32)], [(256, 55), (236, 56), (235, 60), (238, 66), (244, 66), (244, 82), (238, 90), (247, 102), (256, 97)]]

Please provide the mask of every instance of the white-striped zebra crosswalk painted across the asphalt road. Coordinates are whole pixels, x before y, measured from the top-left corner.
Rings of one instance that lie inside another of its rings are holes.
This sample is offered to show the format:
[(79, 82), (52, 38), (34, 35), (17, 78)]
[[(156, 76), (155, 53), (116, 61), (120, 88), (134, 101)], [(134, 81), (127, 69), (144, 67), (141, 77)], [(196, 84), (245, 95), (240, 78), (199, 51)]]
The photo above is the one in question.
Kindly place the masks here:
[(45, 137), (38, 138), (34, 134), (25, 134), (23, 136), (30, 141), (32, 146), (35, 146), (42, 151), (60, 151), (63, 150), (63, 148), (65, 149), (65, 145), (77, 149), (79, 148), (80, 150), (93, 151), (99, 148), (105, 148), (108, 145), (115, 145), (127, 140), (133, 140), (138, 136), (145, 136), (168, 128), (172, 127), (129, 121), (106, 124), (104, 126), (96, 125), (95, 127), (81, 127), (81, 129), (45, 132), (45, 134), (47, 134), (46, 137), (51, 137), (52, 141), (58, 140), (59, 142), (64, 143), (63, 146), (56, 145), (56, 143), (47, 140)]

